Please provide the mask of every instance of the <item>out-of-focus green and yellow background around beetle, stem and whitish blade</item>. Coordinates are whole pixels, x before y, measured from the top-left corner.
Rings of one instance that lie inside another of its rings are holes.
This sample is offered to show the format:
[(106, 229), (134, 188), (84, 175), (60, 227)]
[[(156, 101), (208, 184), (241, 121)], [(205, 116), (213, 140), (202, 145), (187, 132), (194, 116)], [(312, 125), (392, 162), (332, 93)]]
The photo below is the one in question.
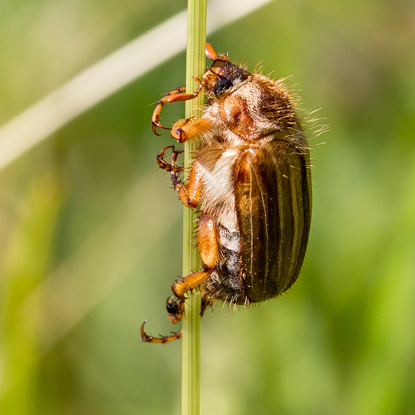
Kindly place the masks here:
[[(2, 1), (0, 124), (185, 8)], [(291, 75), (328, 131), (310, 131), (297, 283), (203, 318), (202, 414), (414, 414), (414, 1), (273, 1), (208, 41)], [(1, 171), (2, 415), (179, 414), (180, 342), (144, 344), (139, 328), (173, 330), (164, 302), (181, 275), (182, 205), (155, 164), (172, 141), (150, 119), (184, 79), (183, 52)]]

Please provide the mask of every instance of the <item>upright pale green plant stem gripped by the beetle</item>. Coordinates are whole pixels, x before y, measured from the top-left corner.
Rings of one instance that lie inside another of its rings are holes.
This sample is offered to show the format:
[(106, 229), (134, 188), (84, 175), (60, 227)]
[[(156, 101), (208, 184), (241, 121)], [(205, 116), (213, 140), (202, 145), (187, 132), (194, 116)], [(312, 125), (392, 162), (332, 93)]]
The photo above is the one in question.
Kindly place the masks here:
[[(186, 90), (192, 92), (197, 83), (191, 78), (205, 71), (207, 0), (188, 0), (188, 39), (186, 55)], [(203, 94), (186, 102), (186, 118), (199, 116)], [(185, 144), (185, 166), (192, 154), (191, 140)], [(183, 216), (183, 275), (197, 270), (200, 259), (192, 249), (196, 214), (184, 207)], [(182, 415), (200, 415), (200, 296), (189, 295), (182, 323)]]

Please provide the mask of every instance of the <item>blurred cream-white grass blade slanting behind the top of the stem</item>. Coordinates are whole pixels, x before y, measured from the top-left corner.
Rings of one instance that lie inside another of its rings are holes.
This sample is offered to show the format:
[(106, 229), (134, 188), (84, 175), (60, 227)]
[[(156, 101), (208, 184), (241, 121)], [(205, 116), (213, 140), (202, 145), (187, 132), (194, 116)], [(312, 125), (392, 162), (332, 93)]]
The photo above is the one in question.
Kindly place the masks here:
[[(209, 2), (211, 33), (270, 0)], [(187, 12), (178, 13), (95, 63), (0, 128), (0, 169), (95, 104), (186, 46)]]

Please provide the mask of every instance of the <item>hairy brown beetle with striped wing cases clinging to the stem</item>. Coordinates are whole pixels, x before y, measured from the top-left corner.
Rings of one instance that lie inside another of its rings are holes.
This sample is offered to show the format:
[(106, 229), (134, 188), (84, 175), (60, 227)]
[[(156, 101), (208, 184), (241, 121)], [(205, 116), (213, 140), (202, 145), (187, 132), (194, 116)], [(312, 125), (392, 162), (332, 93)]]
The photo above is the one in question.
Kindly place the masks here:
[[(213, 61), (193, 94), (185, 87), (168, 92), (156, 105), (152, 130), (167, 103), (196, 98), (205, 88), (200, 118), (177, 121), (178, 143), (199, 136), (185, 185), (176, 164), (183, 150), (170, 145), (157, 156), (169, 171), (174, 190), (189, 208), (200, 207), (197, 242), (203, 269), (173, 284), (166, 304), (173, 323), (181, 320), (186, 293), (200, 288), (202, 312), (212, 300), (248, 306), (279, 296), (297, 279), (311, 221), (309, 147), (295, 102), (282, 80), (273, 81), (233, 64), (206, 44)], [(171, 150), (170, 162), (165, 153)], [(146, 320), (147, 321), (147, 320)], [(181, 332), (143, 341), (167, 343)]]

